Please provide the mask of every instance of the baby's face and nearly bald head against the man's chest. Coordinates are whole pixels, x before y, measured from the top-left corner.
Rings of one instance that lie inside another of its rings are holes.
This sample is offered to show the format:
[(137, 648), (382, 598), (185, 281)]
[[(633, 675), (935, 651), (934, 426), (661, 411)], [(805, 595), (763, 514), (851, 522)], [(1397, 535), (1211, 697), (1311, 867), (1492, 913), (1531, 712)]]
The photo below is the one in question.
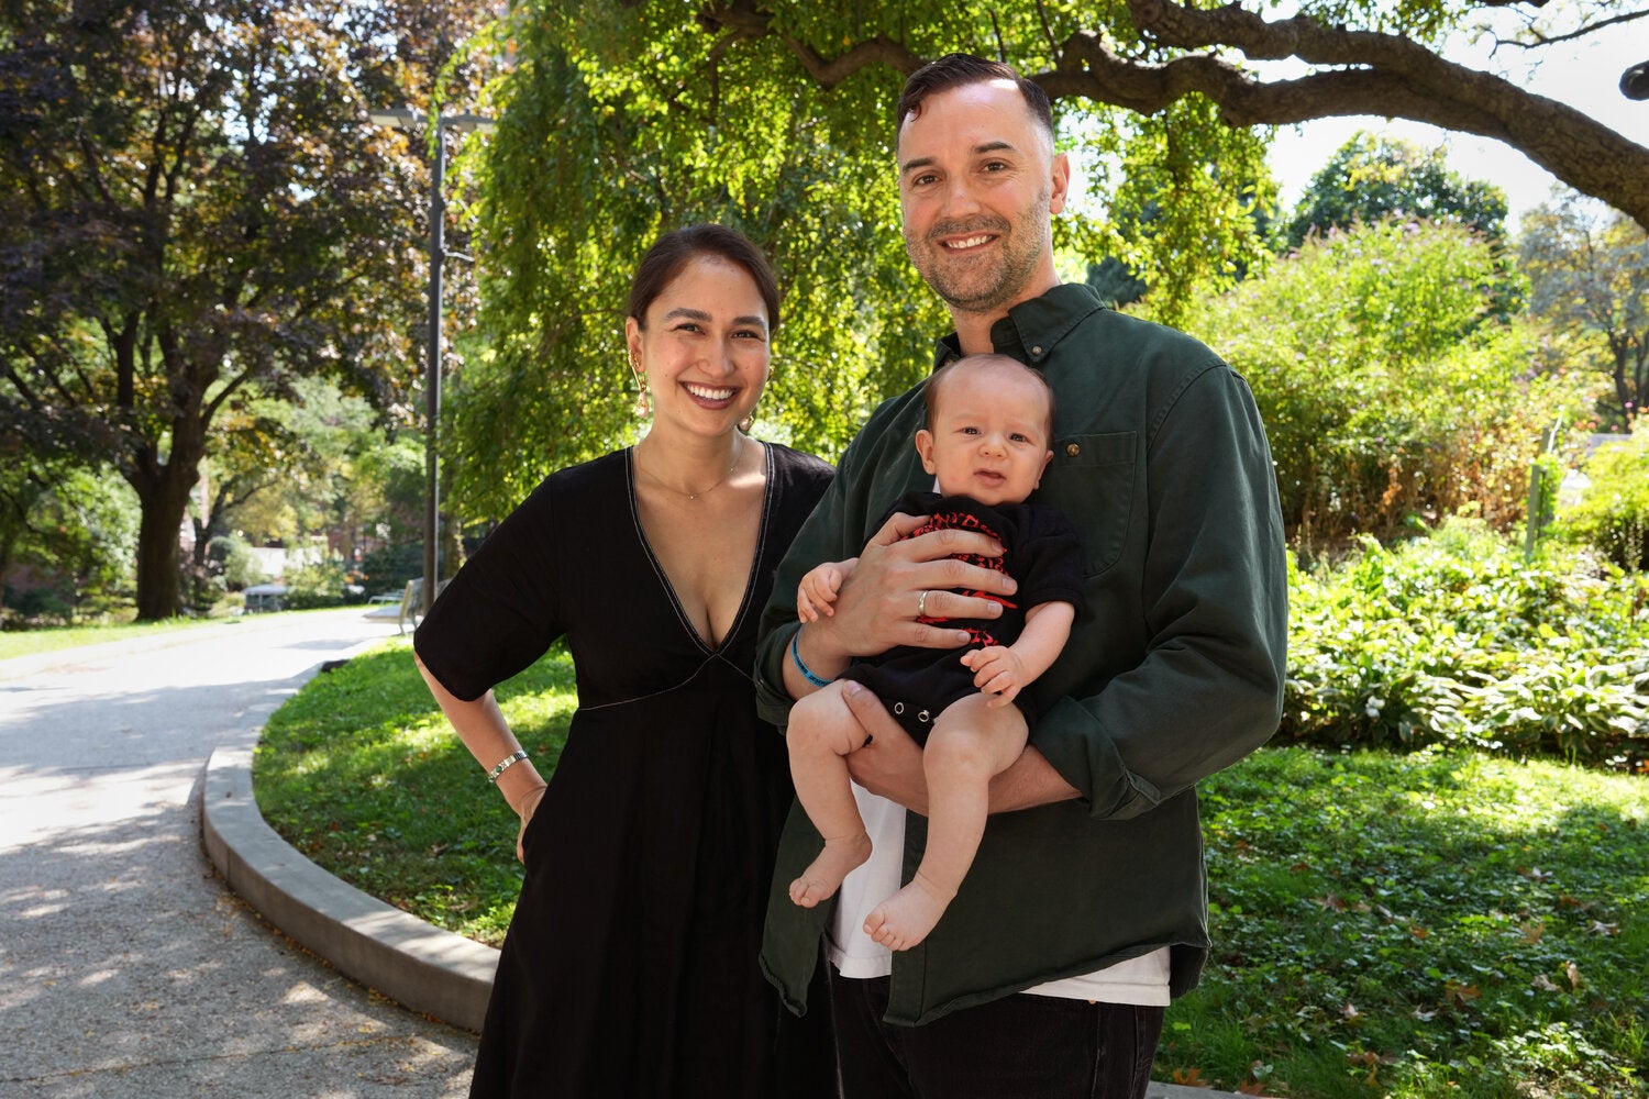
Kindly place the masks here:
[(940, 493), (1017, 504), (1042, 481), (1049, 450), (1047, 389), (1022, 369), (966, 366), (945, 379), (933, 422), (917, 432), (922, 466)]

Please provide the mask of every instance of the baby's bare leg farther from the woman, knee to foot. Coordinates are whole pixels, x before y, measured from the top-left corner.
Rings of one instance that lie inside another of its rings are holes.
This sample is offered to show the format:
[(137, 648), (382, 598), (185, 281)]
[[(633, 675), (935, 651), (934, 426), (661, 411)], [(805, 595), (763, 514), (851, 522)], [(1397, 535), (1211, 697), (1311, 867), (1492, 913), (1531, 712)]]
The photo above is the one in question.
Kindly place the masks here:
[(866, 934), (886, 947), (909, 951), (933, 931), (980, 850), (991, 778), (1024, 751), (1024, 713), (1014, 705), (986, 707), (988, 697), (968, 695), (933, 722), (922, 751), (930, 811), (922, 865), (910, 885), (864, 921)]

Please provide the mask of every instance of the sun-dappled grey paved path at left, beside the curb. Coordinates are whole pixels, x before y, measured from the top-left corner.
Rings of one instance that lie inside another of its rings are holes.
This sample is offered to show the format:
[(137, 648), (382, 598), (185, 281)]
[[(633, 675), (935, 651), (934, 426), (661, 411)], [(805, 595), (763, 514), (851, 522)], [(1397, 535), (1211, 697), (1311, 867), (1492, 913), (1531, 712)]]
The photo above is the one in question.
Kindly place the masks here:
[(195, 793), (358, 610), (0, 661), (0, 1096), (462, 1096), (475, 1040), (297, 947), (216, 878)]

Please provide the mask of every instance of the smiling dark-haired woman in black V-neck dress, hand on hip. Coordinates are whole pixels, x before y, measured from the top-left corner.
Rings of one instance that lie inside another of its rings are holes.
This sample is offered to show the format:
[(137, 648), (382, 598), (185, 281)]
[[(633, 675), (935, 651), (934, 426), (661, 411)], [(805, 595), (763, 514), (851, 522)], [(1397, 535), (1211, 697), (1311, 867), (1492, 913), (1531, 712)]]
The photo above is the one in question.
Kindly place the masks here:
[[(836, 1094), (823, 1020), (790, 1017), (757, 966), (792, 788), (749, 669), (831, 476), (740, 430), (777, 325), (737, 232), (655, 244), (625, 320), (646, 437), (546, 478), (419, 626), (430, 690), (521, 817), (472, 1096)], [(546, 786), (491, 687), (562, 636), (579, 710)]]

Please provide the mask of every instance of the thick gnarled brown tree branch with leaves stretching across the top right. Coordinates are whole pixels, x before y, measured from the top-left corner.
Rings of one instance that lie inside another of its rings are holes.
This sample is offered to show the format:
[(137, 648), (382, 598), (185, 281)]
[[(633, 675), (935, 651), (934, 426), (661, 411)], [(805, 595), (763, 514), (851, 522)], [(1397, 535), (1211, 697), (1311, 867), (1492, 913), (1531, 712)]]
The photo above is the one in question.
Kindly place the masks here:
[[(1229, 127), (1337, 115), (1384, 115), (1506, 142), (1571, 188), (1649, 226), (1649, 148), (1494, 72), (1446, 61), (1440, 43), (1482, 28), (1507, 49), (1540, 51), (1593, 33), (1624, 33), (1649, 10), (1573, 0), (1547, 20), (1542, 0), (1318, 0), (1268, 20), (1257, 0), (1219, 7), (1126, 0), (1100, 8), (1001, 5), (980, 16), (940, 5), (856, 8), (704, 3), (699, 20), (719, 54), (768, 49), (798, 61), (821, 87), (874, 66), (910, 72), (940, 48), (1006, 54), (1057, 101), (1082, 99), (1154, 117), (1187, 97), (1217, 105)], [(1510, 12), (1510, 30), (1506, 18)], [(1257, 77), (1243, 64), (1293, 61), (1304, 76)]]

